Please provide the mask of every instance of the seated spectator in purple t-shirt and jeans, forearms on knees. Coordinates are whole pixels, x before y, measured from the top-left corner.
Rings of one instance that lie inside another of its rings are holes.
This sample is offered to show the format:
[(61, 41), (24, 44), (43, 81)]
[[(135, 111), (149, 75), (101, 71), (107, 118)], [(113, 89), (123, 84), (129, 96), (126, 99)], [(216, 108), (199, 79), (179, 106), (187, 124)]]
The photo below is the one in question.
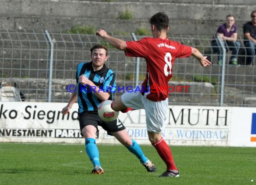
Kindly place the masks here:
[[(237, 26), (234, 24), (235, 18), (234, 15), (226, 16), (226, 23), (219, 26), (216, 31), (215, 38), (219, 36), (227, 50), (232, 51), (230, 57), (230, 64), (237, 65), (237, 56), (240, 48), (240, 43), (237, 41)], [(216, 40), (212, 40), (212, 50), (213, 52), (218, 53), (218, 64), (222, 64), (222, 49), (220, 43)]]

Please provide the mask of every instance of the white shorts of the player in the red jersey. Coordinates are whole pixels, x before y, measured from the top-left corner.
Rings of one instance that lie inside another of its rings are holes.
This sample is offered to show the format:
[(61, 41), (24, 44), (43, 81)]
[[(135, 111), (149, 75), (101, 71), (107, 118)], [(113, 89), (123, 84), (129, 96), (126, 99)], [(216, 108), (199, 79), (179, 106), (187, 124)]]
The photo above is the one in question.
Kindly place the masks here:
[(155, 133), (162, 132), (167, 119), (168, 98), (163, 101), (151, 101), (142, 96), (138, 90), (136, 92), (134, 90), (132, 93), (124, 93), (121, 96), (122, 102), (133, 109), (145, 109), (147, 130)]

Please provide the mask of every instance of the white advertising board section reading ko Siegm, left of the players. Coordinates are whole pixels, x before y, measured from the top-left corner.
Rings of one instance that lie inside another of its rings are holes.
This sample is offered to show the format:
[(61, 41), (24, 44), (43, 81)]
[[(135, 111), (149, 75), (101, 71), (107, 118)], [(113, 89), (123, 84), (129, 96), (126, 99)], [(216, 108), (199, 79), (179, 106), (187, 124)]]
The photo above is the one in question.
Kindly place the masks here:
[(0, 102), (1, 142), (84, 142), (80, 136), (78, 105), (62, 115), (65, 103)]

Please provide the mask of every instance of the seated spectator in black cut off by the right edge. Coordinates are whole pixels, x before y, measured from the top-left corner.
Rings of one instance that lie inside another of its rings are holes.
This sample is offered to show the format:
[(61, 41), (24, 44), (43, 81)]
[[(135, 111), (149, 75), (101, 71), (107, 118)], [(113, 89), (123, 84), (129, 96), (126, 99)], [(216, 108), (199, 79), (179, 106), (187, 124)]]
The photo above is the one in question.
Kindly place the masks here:
[(244, 46), (247, 51), (246, 64), (252, 65), (255, 55), (256, 45), (256, 10), (251, 13), (252, 21), (249, 21), (243, 26)]

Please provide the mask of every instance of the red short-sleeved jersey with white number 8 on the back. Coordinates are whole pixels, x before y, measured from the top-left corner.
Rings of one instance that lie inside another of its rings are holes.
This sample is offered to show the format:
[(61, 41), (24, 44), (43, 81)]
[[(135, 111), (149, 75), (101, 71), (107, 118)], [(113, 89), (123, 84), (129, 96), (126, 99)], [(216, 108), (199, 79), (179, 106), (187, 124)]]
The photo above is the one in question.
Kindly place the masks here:
[[(168, 81), (172, 78), (175, 58), (190, 57), (192, 48), (167, 38), (151, 37), (125, 41), (125, 44), (126, 56), (146, 59), (147, 74), (142, 83), (141, 94), (151, 101), (165, 100), (168, 97)], [(159, 89), (160, 87), (163, 88)]]

